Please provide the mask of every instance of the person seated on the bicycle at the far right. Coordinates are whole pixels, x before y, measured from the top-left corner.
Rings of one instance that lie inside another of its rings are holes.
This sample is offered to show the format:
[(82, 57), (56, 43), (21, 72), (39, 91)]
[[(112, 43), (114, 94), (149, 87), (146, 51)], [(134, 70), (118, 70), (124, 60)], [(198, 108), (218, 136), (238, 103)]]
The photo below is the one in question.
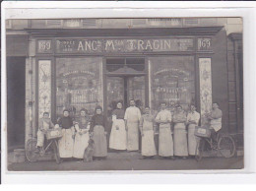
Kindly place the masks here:
[(208, 119), (210, 120), (211, 137), (214, 142), (217, 142), (217, 132), (222, 129), (222, 118), (223, 111), (219, 108), (217, 102), (213, 102), (213, 110), (208, 115)]

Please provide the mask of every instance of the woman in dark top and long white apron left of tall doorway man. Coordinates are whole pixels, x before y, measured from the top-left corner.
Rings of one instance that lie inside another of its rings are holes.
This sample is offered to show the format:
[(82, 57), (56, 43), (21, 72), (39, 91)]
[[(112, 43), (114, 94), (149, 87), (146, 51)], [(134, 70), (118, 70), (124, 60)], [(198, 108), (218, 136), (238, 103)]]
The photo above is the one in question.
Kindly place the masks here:
[(112, 129), (109, 139), (109, 148), (113, 150), (127, 149), (127, 133), (124, 123), (124, 110), (121, 101), (117, 102), (116, 109), (112, 112)]

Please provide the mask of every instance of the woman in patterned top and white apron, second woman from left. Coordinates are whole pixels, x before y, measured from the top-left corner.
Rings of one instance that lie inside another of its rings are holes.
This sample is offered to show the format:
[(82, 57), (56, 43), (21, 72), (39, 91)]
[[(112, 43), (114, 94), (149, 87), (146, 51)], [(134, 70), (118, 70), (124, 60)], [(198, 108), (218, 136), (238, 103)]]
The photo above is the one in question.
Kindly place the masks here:
[(73, 157), (77, 159), (83, 159), (85, 150), (88, 147), (88, 142), (90, 140), (89, 136), (89, 122), (90, 119), (87, 116), (87, 110), (82, 108), (80, 110), (80, 117), (76, 119), (75, 130), (75, 144)]

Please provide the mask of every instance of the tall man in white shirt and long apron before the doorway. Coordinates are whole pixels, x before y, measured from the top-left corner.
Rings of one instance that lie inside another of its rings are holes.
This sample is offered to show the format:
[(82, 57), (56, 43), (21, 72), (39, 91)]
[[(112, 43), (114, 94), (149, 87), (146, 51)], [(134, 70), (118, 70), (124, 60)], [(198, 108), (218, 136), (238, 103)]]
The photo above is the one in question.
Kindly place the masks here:
[(127, 151), (139, 150), (139, 123), (141, 111), (135, 106), (134, 99), (130, 100), (130, 106), (124, 114), (125, 129), (127, 131)]

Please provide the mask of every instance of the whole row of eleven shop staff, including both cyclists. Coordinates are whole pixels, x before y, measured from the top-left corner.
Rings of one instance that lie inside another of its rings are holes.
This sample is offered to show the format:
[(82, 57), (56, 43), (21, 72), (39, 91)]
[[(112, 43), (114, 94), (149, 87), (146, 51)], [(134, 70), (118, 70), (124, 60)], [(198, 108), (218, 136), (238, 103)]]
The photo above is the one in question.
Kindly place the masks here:
[[(222, 128), (222, 115), (218, 103), (213, 103), (213, 111), (207, 117), (214, 139), (216, 139), (216, 133)], [(133, 99), (130, 100), (130, 106), (126, 110), (119, 101), (111, 114), (109, 149), (118, 152), (141, 151), (143, 159), (153, 158), (156, 155), (163, 159), (174, 159), (174, 157), (186, 159), (188, 156), (195, 156), (197, 138), (194, 132), (199, 120), (200, 113), (196, 111), (193, 104), (190, 105), (189, 112), (186, 112), (181, 105), (168, 110), (166, 103), (162, 102), (160, 111), (157, 115), (153, 115), (148, 106), (142, 114)], [(63, 116), (55, 125), (55, 127), (61, 127), (63, 134), (59, 140), (60, 158), (83, 159), (88, 142), (93, 139), (95, 142), (94, 158), (106, 159), (106, 121), (100, 106), (96, 106), (96, 113), (92, 118), (87, 115), (86, 109), (82, 109), (80, 117), (72, 119), (69, 116), (69, 110), (65, 109)], [(49, 113), (45, 112), (39, 121), (37, 147), (43, 148), (45, 131), (53, 127)], [(157, 151), (155, 138), (158, 134)]]

